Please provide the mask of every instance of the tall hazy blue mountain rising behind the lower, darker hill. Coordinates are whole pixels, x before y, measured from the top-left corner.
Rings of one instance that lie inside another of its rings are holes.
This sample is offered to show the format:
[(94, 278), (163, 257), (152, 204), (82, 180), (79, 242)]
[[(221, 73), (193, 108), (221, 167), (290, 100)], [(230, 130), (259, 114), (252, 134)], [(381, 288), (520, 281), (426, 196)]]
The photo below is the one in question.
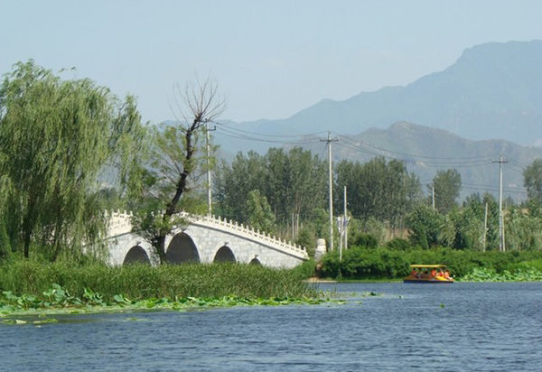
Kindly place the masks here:
[(355, 135), (398, 121), (474, 140), (542, 144), (542, 41), (481, 44), (463, 51), (446, 70), (405, 87), (363, 92), (343, 101), (323, 99), (286, 119), (238, 127), (267, 134), (333, 130)]

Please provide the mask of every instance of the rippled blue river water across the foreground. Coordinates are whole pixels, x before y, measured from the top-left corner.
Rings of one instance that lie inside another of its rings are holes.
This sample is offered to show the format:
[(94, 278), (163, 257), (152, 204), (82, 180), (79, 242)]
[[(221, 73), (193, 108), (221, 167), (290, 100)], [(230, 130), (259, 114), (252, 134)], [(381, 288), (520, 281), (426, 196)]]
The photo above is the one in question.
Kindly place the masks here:
[(542, 370), (542, 283), (320, 287), (347, 303), (0, 325), (0, 369)]

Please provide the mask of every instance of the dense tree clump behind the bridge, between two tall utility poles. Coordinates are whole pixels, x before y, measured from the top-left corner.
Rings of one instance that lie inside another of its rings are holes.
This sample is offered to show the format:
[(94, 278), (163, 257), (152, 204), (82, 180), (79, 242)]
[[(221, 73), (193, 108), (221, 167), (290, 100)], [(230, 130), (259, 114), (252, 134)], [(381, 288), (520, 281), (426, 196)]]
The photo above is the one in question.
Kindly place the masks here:
[(299, 147), (288, 152), (272, 148), (265, 156), (238, 153), (231, 164), (221, 164), (215, 177), (217, 211), (249, 223), (245, 202), (248, 192), (257, 190), (278, 224), (284, 226), (292, 214), (299, 214), (301, 221), (318, 219), (318, 210), (326, 205), (325, 175), (326, 164)]

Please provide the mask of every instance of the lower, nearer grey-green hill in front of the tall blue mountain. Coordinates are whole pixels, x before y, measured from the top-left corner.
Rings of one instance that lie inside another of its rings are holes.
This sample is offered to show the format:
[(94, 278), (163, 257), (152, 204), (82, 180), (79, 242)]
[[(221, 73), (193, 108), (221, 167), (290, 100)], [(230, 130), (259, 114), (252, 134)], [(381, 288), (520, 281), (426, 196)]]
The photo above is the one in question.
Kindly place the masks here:
[[(325, 154), (325, 144), (306, 144), (304, 148)], [(333, 143), (335, 161), (367, 162), (375, 156), (404, 161), (410, 172), (415, 172), (425, 185), (438, 170), (454, 168), (461, 173), (462, 198), (473, 192), (498, 195), (500, 153), (509, 163), (503, 167), (505, 197), (525, 200), (523, 169), (533, 160), (542, 158), (542, 148), (527, 147), (504, 140), (472, 141), (443, 129), (398, 122), (388, 129), (368, 129), (359, 135), (340, 136)]]

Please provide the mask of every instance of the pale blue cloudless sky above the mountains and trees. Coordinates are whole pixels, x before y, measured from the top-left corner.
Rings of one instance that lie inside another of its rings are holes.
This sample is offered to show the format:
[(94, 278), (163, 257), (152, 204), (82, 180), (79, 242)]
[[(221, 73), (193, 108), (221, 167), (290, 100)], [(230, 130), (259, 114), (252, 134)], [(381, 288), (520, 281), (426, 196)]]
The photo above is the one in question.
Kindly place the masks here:
[[(33, 59), (173, 118), (173, 84), (210, 76), (236, 121), (291, 116), (444, 70), (483, 42), (542, 39), (542, 1), (0, 0), (0, 73)], [(64, 76), (64, 75), (63, 75)]]

